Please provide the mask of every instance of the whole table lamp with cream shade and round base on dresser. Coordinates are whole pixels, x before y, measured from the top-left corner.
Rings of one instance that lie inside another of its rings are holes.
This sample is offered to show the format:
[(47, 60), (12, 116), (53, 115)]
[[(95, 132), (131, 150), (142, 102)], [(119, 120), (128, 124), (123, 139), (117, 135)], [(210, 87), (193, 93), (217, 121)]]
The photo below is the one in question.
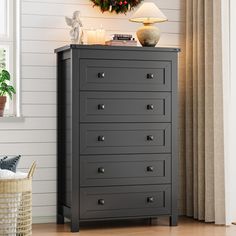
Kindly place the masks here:
[(144, 2), (132, 15), (130, 21), (143, 23), (138, 29), (137, 37), (142, 46), (155, 47), (160, 39), (161, 32), (154, 23), (167, 21), (167, 17), (153, 2)]

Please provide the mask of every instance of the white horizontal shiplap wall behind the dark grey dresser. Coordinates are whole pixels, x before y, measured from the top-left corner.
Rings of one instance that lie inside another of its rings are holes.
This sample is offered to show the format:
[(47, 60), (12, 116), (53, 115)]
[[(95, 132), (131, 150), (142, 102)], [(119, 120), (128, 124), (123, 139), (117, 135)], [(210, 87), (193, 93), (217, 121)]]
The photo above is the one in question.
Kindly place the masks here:
[[(179, 47), (183, 41), (185, 0), (154, 0), (169, 22), (160, 24), (161, 46)], [(69, 41), (64, 16), (81, 11), (85, 29), (106, 29), (112, 33), (132, 33), (138, 24), (127, 15), (104, 13), (89, 0), (21, 1), (21, 96), (23, 121), (0, 121), (2, 154), (22, 154), (20, 167), (33, 160), (37, 170), (33, 182), (33, 217), (55, 220), (56, 215), (56, 57), (54, 49)]]

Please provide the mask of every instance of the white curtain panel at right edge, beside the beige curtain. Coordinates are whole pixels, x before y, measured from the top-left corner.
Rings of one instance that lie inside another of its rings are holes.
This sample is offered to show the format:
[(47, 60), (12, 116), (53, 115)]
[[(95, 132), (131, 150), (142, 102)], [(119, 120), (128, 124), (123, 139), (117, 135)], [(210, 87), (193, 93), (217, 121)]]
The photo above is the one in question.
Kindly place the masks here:
[(236, 222), (236, 1), (221, 1), (222, 13), (222, 59), (224, 92), (224, 152), (225, 152), (225, 195), (226, 225)]

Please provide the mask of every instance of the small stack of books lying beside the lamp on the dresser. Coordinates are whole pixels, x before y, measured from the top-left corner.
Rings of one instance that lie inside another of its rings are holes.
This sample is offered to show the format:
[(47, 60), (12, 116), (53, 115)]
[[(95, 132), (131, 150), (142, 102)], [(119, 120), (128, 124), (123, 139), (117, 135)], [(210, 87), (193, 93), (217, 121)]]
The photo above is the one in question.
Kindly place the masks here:
[(131, 34), (114, 34), (113, 39), (106, 41), (109, 46), (137, 46), (137, 41)]

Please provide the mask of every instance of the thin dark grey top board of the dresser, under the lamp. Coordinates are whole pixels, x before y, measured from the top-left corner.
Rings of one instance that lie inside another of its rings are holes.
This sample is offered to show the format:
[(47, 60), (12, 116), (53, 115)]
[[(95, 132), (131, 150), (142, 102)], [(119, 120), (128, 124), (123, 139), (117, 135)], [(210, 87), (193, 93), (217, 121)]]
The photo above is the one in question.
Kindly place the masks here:
[(150, 52), (179, 52), (179, 48), (175, 47), (133, 47), (133, 46), (105, 46), (105, 45), (79, 45), (68, 44), (55, 49), (55, 53), (67, 51), (70, 49), (86, 49), (86, 50), (125, 50), (125, 51), (150, 51)]

